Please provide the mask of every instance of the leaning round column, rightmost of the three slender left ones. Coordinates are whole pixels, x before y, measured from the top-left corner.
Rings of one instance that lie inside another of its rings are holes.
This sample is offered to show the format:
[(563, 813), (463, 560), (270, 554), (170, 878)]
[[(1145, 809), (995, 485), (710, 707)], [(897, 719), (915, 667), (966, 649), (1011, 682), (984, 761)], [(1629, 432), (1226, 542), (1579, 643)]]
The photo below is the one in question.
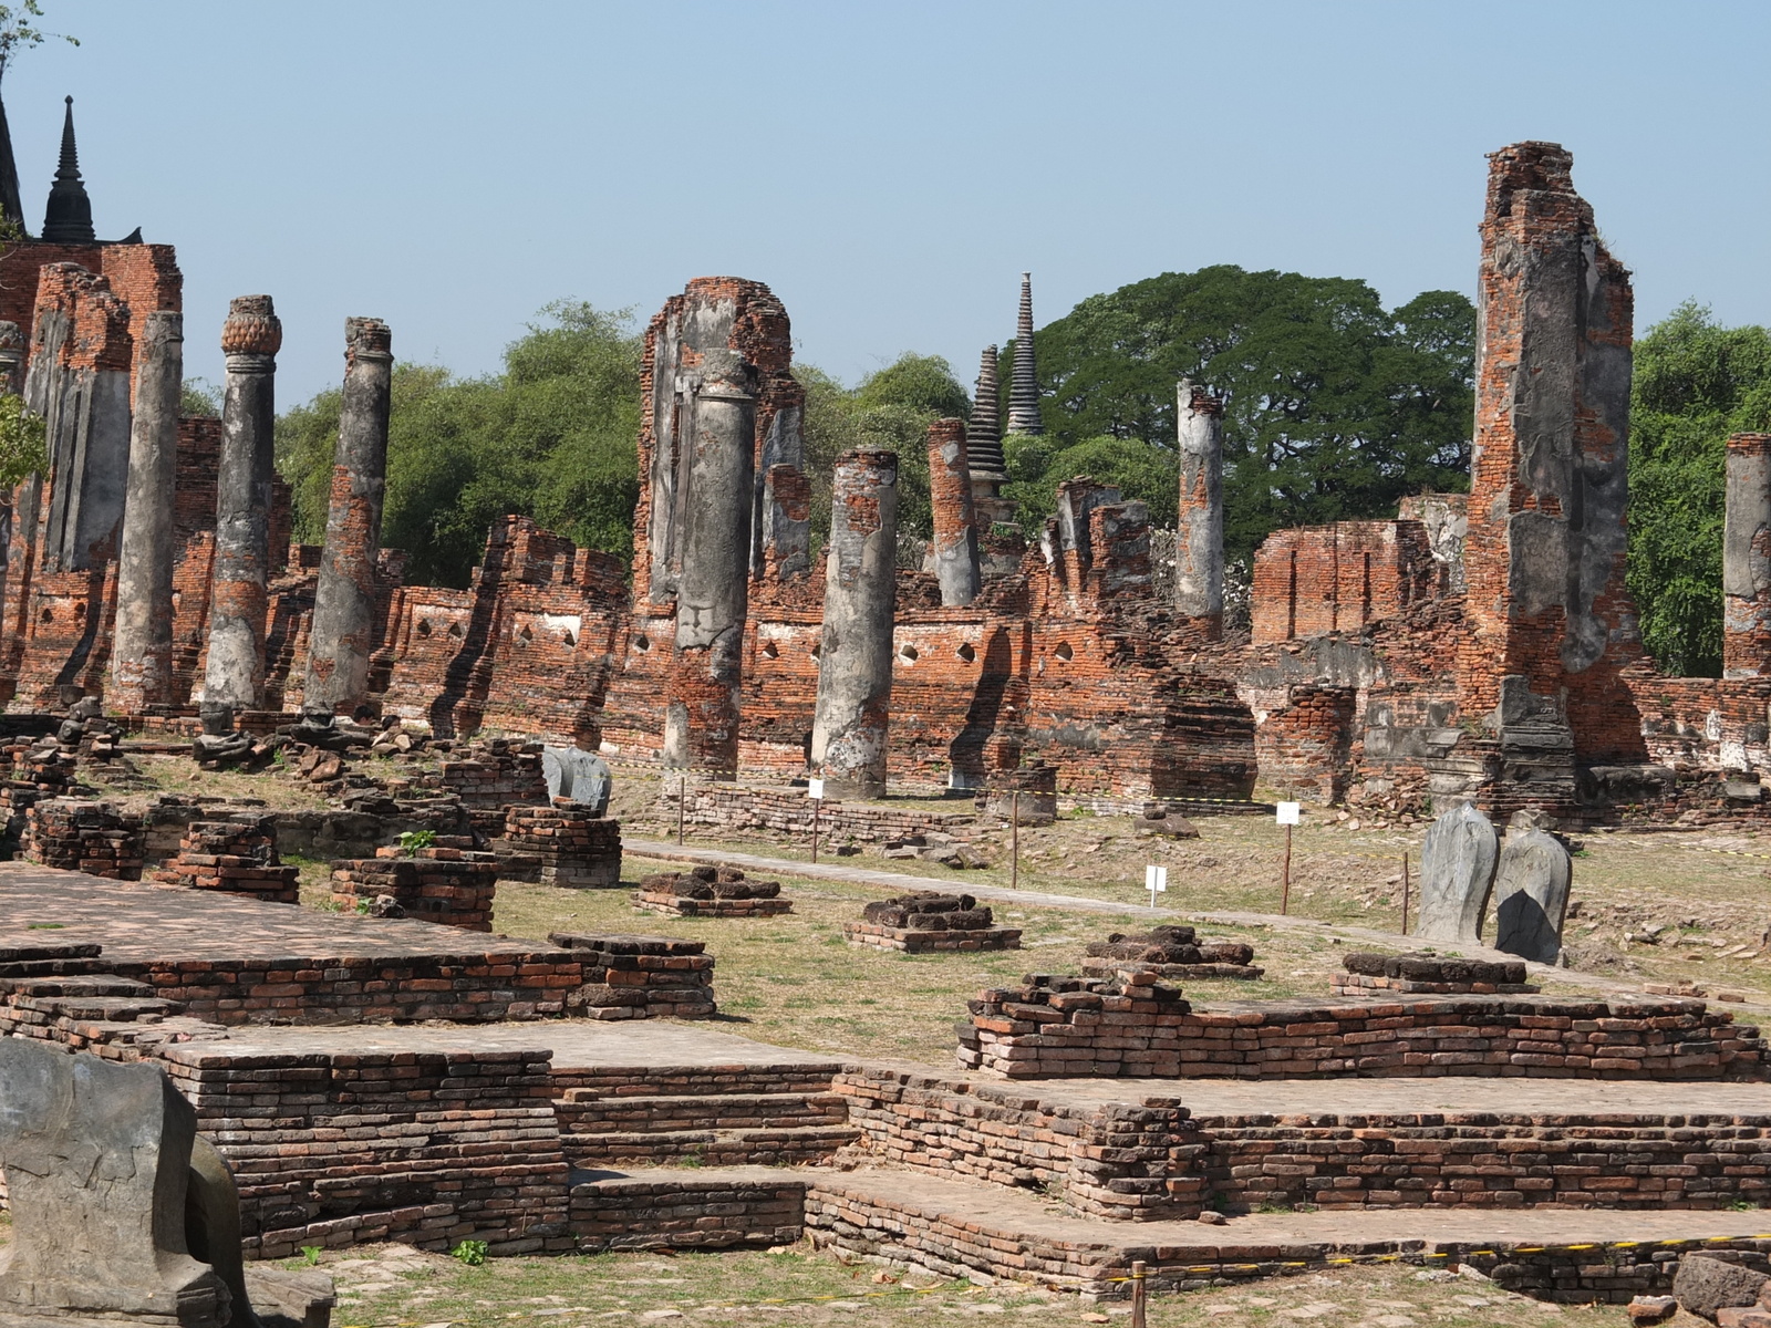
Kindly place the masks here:
[(345, 319), (344, 338), (344, 404), (326, 551), (313, 590), (303, 708), (328, 708), (352, 719), (368, 699), (368, 655), (375, 636), (375, 551), (388, 487), (393, 338), (381, 319)]

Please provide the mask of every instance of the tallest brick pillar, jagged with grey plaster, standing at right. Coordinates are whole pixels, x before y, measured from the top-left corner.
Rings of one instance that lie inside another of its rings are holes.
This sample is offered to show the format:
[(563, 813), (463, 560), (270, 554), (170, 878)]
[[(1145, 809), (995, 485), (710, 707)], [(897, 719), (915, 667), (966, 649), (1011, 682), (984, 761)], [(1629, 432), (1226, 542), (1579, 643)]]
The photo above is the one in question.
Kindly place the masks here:
[(1459, 708), (1498, 742), (1491, 807), (1571, 799), (1576, 760), (1645, 760), (1620, 678), (1640, 657), (1624, 590), (1633, 296), (1571, 165), (1555, 143), (1491, 154), (1481, 227)]

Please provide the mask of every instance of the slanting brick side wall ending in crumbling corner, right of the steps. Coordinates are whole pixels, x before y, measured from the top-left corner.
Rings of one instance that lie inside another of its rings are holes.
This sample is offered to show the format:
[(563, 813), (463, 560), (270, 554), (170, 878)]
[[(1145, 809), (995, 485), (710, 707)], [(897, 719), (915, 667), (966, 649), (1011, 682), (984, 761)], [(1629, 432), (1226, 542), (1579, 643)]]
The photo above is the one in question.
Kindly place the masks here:
[(1197, 1216), (1206, 1144), (1178, 1098), (1056, 1103), (990, 1084), (852, 1066), (832, 1084), (866, 1154), (937, 1176), (1059, 1188), (1093, 1216)]

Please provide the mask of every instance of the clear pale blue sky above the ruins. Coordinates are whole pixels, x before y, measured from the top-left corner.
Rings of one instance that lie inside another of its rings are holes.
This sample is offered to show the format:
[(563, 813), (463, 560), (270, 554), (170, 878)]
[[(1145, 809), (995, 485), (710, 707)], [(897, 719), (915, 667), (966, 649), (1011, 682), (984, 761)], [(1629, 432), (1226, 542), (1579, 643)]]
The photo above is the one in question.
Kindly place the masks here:
[(5, 104), (41, 225), (62, 96), (104, 237), (179, 248), (186, 367), (283, 317), (280, 404), (344, 319), (498, 367), (553, 299), (648, 317), (767, 282), (847, 381), (1213, 262), (1473, 290), (1482, 154), (1574, 152), (1638, 329), (1771, 322), (1766, 4), (44, 0), (81, 39)]

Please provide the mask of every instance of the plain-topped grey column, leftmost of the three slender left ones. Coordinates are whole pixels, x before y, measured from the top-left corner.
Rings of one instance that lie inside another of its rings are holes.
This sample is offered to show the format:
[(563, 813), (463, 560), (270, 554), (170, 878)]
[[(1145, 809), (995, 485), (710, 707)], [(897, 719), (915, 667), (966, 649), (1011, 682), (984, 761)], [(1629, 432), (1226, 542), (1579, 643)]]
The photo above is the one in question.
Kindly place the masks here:
[(117, 554), (108, 699), (124, 714), (172, 699), (172, 501), (182, 382), (184, 315), (149, 313), (136, 342), (129, 485)]

